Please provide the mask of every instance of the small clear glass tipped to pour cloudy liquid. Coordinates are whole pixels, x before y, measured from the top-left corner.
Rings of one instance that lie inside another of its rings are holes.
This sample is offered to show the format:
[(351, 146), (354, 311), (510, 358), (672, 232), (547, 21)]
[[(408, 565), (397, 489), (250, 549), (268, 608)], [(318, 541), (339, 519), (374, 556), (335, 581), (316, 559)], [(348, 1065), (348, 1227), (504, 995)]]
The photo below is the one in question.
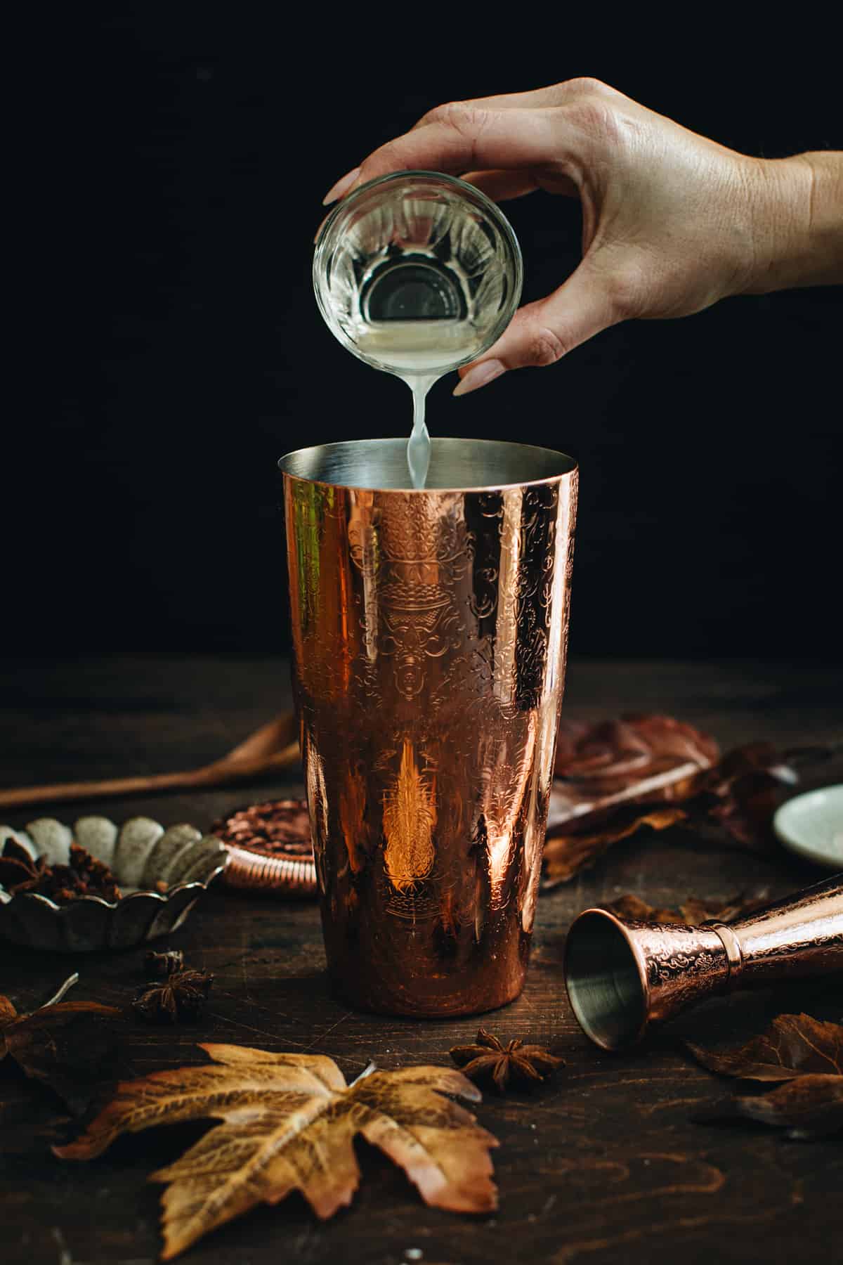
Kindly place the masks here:
[(518, 307), (523, 264), (473, 185), (402, 171), (361, 185), (316, 242), (313, 288), (344, 347), (415, 388), (482, 355)]

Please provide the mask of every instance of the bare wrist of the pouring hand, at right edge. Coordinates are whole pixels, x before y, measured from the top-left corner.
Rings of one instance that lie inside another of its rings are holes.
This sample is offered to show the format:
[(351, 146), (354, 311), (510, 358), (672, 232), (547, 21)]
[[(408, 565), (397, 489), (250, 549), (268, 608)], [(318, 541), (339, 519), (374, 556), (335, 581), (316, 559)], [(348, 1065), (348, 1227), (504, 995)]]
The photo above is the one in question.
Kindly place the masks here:
[(752, 159), (752, 264), (743, 293), (843, 282), (843, 156)]

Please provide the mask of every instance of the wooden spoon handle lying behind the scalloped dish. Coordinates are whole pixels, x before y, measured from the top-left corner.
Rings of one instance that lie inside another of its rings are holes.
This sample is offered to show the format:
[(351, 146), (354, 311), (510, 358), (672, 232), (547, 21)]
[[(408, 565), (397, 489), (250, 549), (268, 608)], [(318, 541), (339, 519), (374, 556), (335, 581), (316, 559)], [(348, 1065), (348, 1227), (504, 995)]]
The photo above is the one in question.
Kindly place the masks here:
[(286, 769), (298, 760), (298, 741), (281, 751), (252, 760), (219, 760), (201, 769), (185, 773), (158, 773), (135, 778), (110, 778), (104, 782), (58, 782), (54, 786), (16, 787), (0, 791), (0, 808), (18, 808), (32, 803), (67, 803), (71, 799), (111, 798), (121, 794), (148, 794), (153, 791), (179, 791), (187, 787), (227, 786), (246, 778)]

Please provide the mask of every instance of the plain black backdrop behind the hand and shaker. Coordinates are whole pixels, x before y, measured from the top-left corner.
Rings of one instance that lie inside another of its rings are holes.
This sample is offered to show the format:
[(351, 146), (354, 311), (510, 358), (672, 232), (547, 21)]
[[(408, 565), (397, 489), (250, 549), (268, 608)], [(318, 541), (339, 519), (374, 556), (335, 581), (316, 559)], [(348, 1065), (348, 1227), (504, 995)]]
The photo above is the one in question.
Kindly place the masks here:
[[(589, 73), (748, 153), (843, 147), (830, 33), (72, 9), (32, 94), (25, 333), (53, 400), (6, 428), (4, 638), (27, 649), (286, 644), (276, 458), (409, 426), (406, 387), (317, 314), (321, 197), (432, 105)], [(538, 297), (578, 261), (578, 207), (508, 214)], [(579, 459), (575, 653), (839, 653), (842, 315), (839, 288), (736, 299), (434, 388), (434, 434)]]

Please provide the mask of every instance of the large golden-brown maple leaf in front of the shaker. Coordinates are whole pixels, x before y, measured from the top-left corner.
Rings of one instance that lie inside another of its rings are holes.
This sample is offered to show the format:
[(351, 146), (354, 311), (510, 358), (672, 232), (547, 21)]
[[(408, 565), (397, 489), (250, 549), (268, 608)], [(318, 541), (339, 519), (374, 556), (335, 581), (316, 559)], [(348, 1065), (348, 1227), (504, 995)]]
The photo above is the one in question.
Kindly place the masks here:
[(346, 1085), (332, 1059), (202, 1045), (205, 1066), (158, 1071), (118, 1087), (114, 1101), (68, 1146), (68, 1160), (101, 1155), (124, 1132), (215, 1117), (222, 1121), (152, 1175), (163, 1195), (163, 1259), (255, 1204), (301, 1190), (318, 1217), (349, 1204), (360, 1182), (361, 1133), (404, 1169), (426, 1203), (455, 1212), (497, 1207), (489, 1149), (497, 1140), (444, 1094), (480, 1094), (452, 1068), (373, 1070)]

